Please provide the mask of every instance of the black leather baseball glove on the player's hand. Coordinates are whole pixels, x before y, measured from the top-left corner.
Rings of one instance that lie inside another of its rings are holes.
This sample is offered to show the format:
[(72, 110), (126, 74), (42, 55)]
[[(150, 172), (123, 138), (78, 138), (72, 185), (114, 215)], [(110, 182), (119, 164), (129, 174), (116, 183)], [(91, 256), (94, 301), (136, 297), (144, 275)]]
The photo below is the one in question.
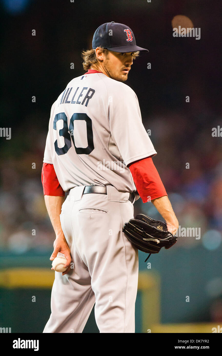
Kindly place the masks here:
[(151, 253), (158, 253), (162, 247), (170, 248), (177, 241), (177, 238), (167, 230), (166, 223), (144, 214), (138, 214), (135, 219), (125, 223), (123, 232), (138, 250), (149, 253), (145, 262)]

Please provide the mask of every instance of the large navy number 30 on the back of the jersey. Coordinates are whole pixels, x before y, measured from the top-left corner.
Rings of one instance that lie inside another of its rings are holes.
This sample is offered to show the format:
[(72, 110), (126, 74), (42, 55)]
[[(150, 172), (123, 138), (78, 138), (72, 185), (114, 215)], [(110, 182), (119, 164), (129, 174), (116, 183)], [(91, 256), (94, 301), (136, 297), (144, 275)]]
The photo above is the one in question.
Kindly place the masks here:
[[(59, 135), (64, 137), (64, 146), (62, 148), (58, 147), (57, 140), (54, 142), (55, 150), (58, 156), (64, 155), (68, 152), (69, 148), (72, 146), (71, 138), (73, 145), (75, 147), (77, 155), (89, 155), (94, 150), (93, 144), (93, 128), (92, 128), (92, 120), (90, 117), (84, 113), (75, 113), (72, 115), (70, 119), (70, 124), (68, 127), (68, 119), (64, 112), (60, 112), (60, 114), (56, 114), (55, 119), (53, 121), (53, 129), (56, 130), (56, 122), (58, 120), (63, 120), (63, 128), (59, 130)], [(87, 142), (88, 146), (86, 148), (76, 147), (74, 140), (74, 120), (84, 120), (86, 121), (86, 131), (87, 131)], [(70, 135), (70, 132), (73, 132), (73, 135)]]

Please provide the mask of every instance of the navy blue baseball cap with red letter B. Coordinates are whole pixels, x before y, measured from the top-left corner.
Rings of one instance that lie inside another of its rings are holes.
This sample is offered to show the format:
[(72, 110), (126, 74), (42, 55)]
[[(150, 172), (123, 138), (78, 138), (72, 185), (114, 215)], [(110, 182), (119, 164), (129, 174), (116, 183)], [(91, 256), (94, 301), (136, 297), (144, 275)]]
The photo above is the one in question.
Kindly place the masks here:
[(103, 47), (114, 52), (149, 52), (148, 49), (136, 46), (133, 31), (123, 23), (114, 21), (103, 23), (93, 35), (92, 48)]

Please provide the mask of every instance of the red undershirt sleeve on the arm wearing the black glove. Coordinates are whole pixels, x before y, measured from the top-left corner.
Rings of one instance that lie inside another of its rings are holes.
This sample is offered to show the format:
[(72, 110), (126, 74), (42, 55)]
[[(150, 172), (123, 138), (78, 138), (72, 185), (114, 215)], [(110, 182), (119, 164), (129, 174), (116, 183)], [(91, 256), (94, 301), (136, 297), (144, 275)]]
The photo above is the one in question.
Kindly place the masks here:
[(143, 203), (167, 195), (151, 157), (130, 163), (129, 169)]

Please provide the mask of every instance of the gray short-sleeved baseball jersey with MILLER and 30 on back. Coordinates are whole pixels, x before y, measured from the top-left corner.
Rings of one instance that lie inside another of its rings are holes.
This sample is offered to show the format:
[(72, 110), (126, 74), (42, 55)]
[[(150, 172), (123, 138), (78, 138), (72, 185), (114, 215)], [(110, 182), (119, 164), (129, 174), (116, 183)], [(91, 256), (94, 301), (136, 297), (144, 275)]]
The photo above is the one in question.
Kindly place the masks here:
[(103, 73), (81, 75), (52, 105), (43, 162), (53, 164), (65, 192), (80, 185), (136, 192), (127, 165), (154, 155), (127, 84)]

